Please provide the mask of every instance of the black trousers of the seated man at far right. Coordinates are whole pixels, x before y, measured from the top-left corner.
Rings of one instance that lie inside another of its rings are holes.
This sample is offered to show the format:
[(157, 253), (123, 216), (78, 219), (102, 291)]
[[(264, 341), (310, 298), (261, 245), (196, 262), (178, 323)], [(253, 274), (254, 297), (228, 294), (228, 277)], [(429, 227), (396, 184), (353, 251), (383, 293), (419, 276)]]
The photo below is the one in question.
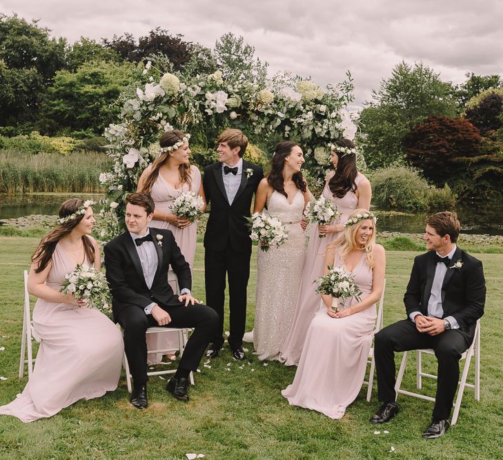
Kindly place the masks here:
[(460, 379), (460, 358), (470, 344), (457, 330), (431, 336), (422, 334), (415, 324), (404, 319), (386, 326), (375, 334), (375, 370), (379, 401), (395, 401), (395, 354), (420, 348), (433, 348), (438, 361), (437, 394), (433, 419), (448, 419)]

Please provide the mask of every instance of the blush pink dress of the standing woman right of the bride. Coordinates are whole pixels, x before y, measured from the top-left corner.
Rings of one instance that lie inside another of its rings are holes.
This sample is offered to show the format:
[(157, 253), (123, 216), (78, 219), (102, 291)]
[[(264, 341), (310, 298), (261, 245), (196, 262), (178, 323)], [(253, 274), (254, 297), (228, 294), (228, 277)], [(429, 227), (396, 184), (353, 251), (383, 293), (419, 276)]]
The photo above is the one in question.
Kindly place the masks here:
[[(362, 179), (364, 179), (364, 175), (358, 174), (355, 178), (356, 186)], [(330, 198), (337, 206), (337, 210), (342, 213), (339, 219), (333, 223), (345, 223), (349, 214), (357, 209), (358, 197), (354, 192), (349, 191), (342, 198), (333, 197), (328, 188), (328, 181), (323, 189), (323, 196)], [(335, 241), (339, 235), (340, 232), (337, 232), (319, 238), (317, 224), (311, 228), (292, 326), (290, 326), (279, 354), (279, 361), (284, 362), (286, 366), (297, 366), (299, 363), (309, 323), (319, 308), (319, 297), (315, 293), (316, 286), (313, 281), (323, 274), (326, 246)]]

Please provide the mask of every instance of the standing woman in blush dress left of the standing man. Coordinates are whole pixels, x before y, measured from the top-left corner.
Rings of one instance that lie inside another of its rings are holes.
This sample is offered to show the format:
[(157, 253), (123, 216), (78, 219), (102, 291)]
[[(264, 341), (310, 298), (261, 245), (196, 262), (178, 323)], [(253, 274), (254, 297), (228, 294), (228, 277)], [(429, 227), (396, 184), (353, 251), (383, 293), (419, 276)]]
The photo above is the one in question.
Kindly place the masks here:
[[(167, 228), (175, 236), (175, 241), (190, 265), (192, 272), (197, 240), (197, 223), (191, 223), (184, 217), (173, 214), (170, 209), (172, 201), (181, 192), (195, 192), (204, 200), (206, 199), (201, 181), (201, 172), (197, 166), (190, 165), (190, 148), (188, 139), (190, 136), (179, 130), (165, 132), (159, 144), (161, 153), (152, 165), (148, 166), (141, 174), (138, 181), (138, 192), (150, 193), (154, 200), (154, 218), (150, 221), (150, 227)], [(178, 335), (172, 334), (148, 334), (147, 347), (150, 350), (175, 349), (178, 346)], [(174, 355), (169, 355), (174, 359)], [(149, 364), (158, 364), (162, 360), (162, 354), (148, 354)]]

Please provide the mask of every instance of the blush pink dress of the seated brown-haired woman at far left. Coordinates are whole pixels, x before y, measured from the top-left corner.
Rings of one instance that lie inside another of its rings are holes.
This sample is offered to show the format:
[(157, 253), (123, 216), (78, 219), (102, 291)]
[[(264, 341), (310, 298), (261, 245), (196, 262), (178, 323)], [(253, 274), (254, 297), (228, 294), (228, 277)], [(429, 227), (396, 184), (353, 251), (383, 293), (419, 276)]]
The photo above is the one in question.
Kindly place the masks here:
[[(74, 269), (58, 243), (46, 284), (59, 290), (63, 277)], [(117, 388), (124, 341), (99, 310), (38, 299), (33, 326), (41, 343), (32, 377), (12, 403), (0, 407), (0, 414), (34, 421)]]

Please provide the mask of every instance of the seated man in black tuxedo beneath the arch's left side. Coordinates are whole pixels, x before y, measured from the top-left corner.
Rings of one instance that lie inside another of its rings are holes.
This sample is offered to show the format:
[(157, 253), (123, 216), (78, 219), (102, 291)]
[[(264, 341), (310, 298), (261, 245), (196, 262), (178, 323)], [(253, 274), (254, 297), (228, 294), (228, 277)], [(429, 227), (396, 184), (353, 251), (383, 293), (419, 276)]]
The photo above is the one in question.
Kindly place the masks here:
[[(175, 377), (166, 386), (175, 398), (188, 401), (190, 371), (197, 370), (218, 325), (217, 314), (190, 294), (190, 267), (172, 232), (148, 228), (154, 206), (149, 194), (130, 194), (126, 199), (128, 231), (112, 239), (104, 248), (113, 313), (124, 328), (124, 348), (132, 374), (130, 402), (139, 409), (148, 405), (147, 328), (195, 328)], [(180, 296), (168, 284), (170, 265), (178, 277)]]

